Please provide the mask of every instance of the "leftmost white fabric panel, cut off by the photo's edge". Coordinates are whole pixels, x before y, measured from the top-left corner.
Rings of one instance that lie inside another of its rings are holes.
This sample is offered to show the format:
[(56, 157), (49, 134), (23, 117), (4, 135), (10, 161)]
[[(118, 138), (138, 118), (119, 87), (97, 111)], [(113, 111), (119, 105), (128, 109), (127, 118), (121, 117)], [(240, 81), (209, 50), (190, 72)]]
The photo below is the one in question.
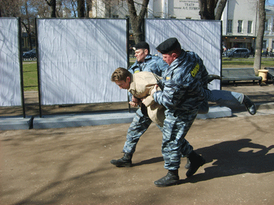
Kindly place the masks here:
[(18, 19), (0, 18), (0, 106), (21, 105)]

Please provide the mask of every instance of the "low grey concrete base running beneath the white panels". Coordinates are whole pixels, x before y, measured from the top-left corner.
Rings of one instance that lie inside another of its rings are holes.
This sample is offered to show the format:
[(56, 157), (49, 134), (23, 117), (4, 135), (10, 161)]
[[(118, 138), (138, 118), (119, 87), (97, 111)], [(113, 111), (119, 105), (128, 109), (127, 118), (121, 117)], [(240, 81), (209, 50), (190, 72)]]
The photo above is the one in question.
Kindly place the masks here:
[[(82, 115), (45, 115), (42, 118), (1, 118), (0, 130), (19, 130), (31, 128), (66, 128), (96, 126), (103, 124), (130, 123), (135, 113), (110, 112)], [(210, 107), (207, 114), (198, 114), (197, 119), (231, 117), (232, 110), (227, 107)]]

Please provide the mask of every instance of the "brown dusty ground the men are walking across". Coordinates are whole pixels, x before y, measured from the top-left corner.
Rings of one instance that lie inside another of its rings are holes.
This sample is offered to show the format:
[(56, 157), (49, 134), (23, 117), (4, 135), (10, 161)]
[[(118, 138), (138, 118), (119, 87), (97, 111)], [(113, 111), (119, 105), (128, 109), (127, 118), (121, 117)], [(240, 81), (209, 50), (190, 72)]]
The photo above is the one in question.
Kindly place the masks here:
[[(224, 90), (244, 92), (260, 107), (274, 102), (273, 88)], [(131, 168), (110, 164), (122, 156), (129, 124), (0, 131), (0, 204), (274, 204), (273, 121), (273, 109), (196, 120), (186, 138), (206, 165), (186, 178), (182, 159), (180, 184), (167, 188), (153, 184), (166, 174), (155, 124)]]

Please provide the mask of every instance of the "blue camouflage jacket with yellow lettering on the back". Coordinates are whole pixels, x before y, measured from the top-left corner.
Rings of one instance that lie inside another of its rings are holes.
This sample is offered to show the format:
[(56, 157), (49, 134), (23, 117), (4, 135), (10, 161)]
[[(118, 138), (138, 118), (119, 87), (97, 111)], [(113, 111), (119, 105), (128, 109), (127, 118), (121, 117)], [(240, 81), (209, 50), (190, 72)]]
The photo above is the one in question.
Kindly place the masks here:
[(155, 102), (171, 113), (198, 110), (205, 100), (203, 89), (208, 87), (208, 71), (196, 53), (182, 50), (162, 77), (164, 90), (153, 94)]

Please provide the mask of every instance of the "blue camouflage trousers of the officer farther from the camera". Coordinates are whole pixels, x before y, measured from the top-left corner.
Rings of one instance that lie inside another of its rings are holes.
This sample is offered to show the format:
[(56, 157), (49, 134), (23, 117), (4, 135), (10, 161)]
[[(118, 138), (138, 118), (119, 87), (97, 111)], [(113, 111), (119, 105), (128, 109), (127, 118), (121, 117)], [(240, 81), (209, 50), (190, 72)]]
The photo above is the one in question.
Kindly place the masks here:
[[(147, 128), (149, 128), (151, 122), (152, 121), (150, 118), (143, 115), (140, 109), (136, 111), (132, 124), (130, 124), (127, 130), (127, 141), (125, 141), (123, 152), (129, 154), (133, 154), (135, 152), (140, 137), (143, 133), (145, 133), (145, 131), (147, 131)], [(158, 127), (162, 131), (162, 127)]]

